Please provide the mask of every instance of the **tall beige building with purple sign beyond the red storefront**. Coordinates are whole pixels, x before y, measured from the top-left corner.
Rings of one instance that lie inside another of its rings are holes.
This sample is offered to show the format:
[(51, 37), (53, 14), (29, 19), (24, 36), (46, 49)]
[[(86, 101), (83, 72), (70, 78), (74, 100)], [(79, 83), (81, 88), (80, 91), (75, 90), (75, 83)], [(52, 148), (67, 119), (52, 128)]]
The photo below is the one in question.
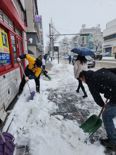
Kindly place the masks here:
[(35, 57), (43, 53), (42, 16), (38, 13), (37, 0), (25, 0), (27, 15), (27, 46)]

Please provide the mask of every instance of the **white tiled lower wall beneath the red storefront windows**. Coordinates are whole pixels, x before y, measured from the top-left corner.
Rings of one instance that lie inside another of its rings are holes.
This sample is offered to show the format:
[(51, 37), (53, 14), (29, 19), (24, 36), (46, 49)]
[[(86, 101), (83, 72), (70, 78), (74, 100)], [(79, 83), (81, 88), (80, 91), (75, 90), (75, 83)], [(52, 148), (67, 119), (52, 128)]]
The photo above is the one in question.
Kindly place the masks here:
[(5, 110), (18, 92), (20, 79), (19, 68), (0, 76), (0, 118), (3, 121), (6, 117)]

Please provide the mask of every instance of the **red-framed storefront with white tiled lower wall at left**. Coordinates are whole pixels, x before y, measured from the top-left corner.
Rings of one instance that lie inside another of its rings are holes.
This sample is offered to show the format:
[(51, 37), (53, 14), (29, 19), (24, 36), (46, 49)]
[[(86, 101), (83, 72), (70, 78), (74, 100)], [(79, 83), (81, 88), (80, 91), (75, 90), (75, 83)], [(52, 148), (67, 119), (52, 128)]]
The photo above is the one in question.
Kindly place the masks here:
[(0, 119), (18, 92), (21, 70), (17, 57), (25, 50), (26, 14), (21, 1), (0, 1)]

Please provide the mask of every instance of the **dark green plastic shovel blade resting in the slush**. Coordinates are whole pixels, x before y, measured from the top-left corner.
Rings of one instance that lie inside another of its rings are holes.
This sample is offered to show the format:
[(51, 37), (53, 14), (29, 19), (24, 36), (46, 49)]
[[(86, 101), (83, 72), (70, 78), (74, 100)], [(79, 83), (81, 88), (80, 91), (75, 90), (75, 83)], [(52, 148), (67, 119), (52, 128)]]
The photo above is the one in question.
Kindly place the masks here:
[(84, 132), (91, 134), (95, 133), (101, 125), (102, 120), (97, 115), (92, 115), (83, 124), (81, 124), (80, 128), (82, 128)]

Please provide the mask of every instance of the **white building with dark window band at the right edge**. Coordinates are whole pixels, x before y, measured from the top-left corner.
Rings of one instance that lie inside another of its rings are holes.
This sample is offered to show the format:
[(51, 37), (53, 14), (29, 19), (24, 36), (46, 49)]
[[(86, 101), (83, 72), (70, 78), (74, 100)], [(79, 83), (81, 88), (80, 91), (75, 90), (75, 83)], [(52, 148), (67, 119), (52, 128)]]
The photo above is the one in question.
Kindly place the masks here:
[(106, 56), (116, 55), (116, 19), (106, 24), (103, 31), (103, 53)]

